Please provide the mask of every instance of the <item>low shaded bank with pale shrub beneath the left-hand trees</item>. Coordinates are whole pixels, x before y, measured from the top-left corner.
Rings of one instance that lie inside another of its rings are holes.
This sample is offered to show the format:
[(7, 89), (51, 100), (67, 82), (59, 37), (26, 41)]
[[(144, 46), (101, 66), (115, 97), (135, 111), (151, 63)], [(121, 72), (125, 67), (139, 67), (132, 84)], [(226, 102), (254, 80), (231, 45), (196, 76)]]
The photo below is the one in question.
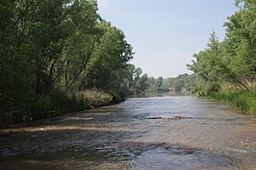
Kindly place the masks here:
[(0, 114), (0, 128), (7, 128), (18, 123), (32, 122), (39, 119), (62, 116), (68, 112), (93, 109), (122, 102), (122, 100), (117, 101), (114, 96), (97, 89), (86, 90), (79, 94), (65, 96), (65, 98), (66, 99), (64, 100), (64, 97), (61, 96), (59, 101), (56, 100), (55, 107), (50, 110), (16, 109), (3, 112)]

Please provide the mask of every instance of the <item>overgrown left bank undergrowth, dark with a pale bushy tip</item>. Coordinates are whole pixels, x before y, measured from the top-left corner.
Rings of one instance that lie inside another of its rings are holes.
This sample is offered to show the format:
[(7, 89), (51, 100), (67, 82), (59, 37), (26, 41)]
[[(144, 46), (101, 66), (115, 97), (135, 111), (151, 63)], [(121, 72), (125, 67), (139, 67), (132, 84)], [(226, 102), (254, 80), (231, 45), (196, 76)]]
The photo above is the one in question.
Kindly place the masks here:
[(32, 101), (27, 107), (0, 110), (0, 128), (9, 125), (35, 121), (79, 111), (110, 105), (114, 97), (97, 89), (65, 94), (61, 91)]

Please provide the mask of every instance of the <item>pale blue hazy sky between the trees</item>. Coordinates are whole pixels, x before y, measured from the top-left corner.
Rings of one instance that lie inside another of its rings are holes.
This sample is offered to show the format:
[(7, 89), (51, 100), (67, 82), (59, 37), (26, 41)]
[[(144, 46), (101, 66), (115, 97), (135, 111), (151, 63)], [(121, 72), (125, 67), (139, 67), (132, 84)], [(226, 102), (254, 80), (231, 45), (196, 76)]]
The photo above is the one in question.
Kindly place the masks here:
[(98, 0), (99, 14), (133, 46), (132, 63), (149, 77), (191, 73), (186, 64), (206, 48), (215, 31), (238, 9), (234, 0)]

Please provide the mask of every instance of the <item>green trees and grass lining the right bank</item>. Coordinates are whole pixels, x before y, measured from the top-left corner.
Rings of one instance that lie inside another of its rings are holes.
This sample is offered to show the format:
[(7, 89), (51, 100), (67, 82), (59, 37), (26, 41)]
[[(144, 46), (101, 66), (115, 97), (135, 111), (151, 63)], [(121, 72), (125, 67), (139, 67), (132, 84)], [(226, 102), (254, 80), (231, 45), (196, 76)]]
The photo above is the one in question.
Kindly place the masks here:
[(256, 112), (256, 1), (237, 0), (236, 6), (239, 11), (224, 23), (224, 40), (218, 41), (213, 33), (188, 67), (196, 76), (198, 95)]

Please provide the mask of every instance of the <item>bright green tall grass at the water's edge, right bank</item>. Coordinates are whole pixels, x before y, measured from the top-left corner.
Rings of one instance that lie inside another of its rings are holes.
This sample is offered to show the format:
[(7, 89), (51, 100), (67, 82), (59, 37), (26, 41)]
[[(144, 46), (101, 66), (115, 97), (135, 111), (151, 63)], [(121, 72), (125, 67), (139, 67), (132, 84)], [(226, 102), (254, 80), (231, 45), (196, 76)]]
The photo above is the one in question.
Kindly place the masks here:
[(221, 90), (210, 95), (211, 98), (226, 101), (243, 112), (256, 114), (256, 88), (250, 92), (238, 89)]

